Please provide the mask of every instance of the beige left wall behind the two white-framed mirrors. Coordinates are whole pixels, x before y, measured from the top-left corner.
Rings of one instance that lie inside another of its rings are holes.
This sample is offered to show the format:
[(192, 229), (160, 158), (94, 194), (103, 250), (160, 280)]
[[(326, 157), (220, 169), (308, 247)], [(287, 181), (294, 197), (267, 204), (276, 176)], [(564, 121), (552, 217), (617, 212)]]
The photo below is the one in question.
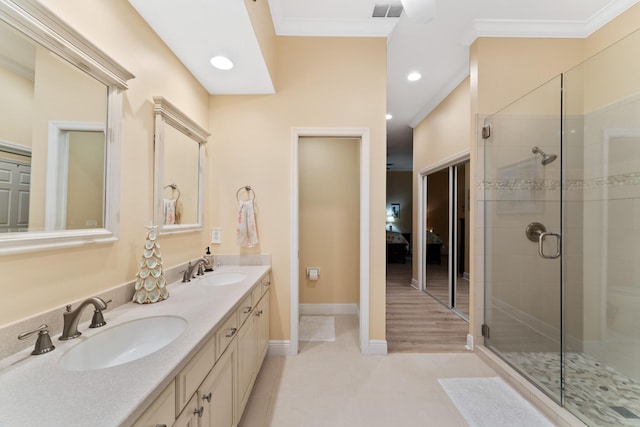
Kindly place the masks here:
[[(124, 95), (120, 238), (116, 243), (0, 258), (0, 325), (131, 281), (153, 218), (153, 102), (162, 95), (207, 124), (209, 95), (126, 0), (43, 0), (136, 78)], [(207, 182), (207, 190), (211, 189)], [(210, 191), (206, 191), (209, 203)], [(210, 228), (205, 218), (205, 230)], [(200, 255), (208, 233), (161, 237), (167, 268)], [(62, 310), (62, 309), (61, 309)]]

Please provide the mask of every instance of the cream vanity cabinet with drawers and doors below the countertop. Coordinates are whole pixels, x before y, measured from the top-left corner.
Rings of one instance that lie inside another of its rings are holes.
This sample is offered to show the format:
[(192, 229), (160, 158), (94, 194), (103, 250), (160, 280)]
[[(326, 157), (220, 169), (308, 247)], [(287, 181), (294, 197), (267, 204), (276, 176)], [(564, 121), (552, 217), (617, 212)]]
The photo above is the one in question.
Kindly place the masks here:
[(134, 427), (238, 425), (269, 347), (269, 284), (267, 275), (227, 314)]

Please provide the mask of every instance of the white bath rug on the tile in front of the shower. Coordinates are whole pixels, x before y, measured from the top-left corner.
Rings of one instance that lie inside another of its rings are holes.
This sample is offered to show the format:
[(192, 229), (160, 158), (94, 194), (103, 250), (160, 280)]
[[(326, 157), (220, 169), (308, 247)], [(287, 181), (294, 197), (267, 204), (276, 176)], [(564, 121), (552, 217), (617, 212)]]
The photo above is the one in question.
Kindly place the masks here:
[(502, 378), (438, 380), (471, 427), (553, 427)]

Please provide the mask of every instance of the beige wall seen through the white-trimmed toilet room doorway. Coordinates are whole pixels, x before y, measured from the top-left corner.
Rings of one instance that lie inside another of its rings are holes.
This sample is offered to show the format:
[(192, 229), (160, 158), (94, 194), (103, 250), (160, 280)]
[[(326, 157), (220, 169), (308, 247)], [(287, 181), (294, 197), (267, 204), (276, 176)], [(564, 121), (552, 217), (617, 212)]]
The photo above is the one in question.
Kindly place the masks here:
[(298, 150), (300, 303), (359, 304), (360, 139), (300, 138)]

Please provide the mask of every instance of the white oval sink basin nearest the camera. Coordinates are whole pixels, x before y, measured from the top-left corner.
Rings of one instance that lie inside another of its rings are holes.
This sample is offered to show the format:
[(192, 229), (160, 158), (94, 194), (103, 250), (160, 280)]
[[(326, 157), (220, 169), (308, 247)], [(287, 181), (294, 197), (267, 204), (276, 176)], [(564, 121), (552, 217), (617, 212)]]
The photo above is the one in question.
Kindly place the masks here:
[(69, 349), (60, 366), (90, 371), (122, 365), (154, 353), (178, 338), (187, 321), (176, 316), (144, 317), (108, 327)]

